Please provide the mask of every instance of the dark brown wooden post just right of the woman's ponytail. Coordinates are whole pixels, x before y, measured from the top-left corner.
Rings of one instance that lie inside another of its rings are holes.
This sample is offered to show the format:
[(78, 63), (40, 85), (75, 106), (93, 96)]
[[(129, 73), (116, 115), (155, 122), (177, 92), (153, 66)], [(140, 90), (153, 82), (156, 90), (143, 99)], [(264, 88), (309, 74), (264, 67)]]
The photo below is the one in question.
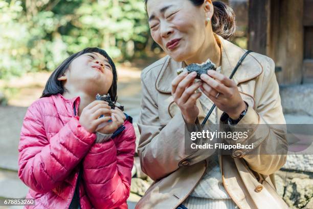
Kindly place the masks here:
[(249, 1), (248, 49), (266, 54), (270, 0)]

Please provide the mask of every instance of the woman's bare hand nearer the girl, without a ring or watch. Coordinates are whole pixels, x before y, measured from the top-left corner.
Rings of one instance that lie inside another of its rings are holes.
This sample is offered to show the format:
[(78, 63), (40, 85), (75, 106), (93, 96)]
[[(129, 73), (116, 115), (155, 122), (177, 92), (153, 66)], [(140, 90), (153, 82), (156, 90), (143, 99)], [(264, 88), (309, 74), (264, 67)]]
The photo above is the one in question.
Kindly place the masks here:
[(196, 93), (195, 90), (202, 85), (202, 81), (193, 83), (196, 75), (195, 72), (190, 74), (184, 72), (172, 81), (172, 96), (187, 124), (195, 123), (199, 115), (196, 101), (201, 96), (201, 92)]

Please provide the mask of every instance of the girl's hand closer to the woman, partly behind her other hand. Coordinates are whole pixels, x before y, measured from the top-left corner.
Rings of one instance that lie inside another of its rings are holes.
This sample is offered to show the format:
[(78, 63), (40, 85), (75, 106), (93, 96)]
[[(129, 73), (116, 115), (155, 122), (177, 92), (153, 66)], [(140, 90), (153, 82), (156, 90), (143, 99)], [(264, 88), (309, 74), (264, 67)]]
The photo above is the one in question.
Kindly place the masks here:
[(113, 134), (120, 126), (122, 126), (126, 116), (120, 109), (115, 108), (114, 110), (111, 110), (111, 118), (112, 122), (110, 122), (102, 129), (99, 129), (98, 132), (102, 134)]

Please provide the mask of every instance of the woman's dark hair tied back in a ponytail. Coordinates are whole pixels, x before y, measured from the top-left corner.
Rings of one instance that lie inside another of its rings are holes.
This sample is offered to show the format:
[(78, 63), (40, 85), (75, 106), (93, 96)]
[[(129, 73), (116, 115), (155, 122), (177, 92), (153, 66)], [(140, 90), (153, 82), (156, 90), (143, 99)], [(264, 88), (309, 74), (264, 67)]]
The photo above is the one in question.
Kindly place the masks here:
[[(205, 0), (189, 0), (194, 6), (203, 5)], [(147, 10), (148, 0), (144, 0)], [(212, 16), (213, 32), (221, 37), (231, 40), (236, 31), (236, 15), (233, 9), (223, 2), (213, 2)]]

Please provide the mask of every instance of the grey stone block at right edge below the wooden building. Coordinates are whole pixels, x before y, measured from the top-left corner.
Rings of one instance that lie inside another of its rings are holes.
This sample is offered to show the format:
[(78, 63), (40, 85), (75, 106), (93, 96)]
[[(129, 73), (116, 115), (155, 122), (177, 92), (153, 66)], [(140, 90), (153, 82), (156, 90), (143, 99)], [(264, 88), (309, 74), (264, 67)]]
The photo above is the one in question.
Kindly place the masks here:
[(284, 114), (313, 116), (313, 85), (280, 87)]

